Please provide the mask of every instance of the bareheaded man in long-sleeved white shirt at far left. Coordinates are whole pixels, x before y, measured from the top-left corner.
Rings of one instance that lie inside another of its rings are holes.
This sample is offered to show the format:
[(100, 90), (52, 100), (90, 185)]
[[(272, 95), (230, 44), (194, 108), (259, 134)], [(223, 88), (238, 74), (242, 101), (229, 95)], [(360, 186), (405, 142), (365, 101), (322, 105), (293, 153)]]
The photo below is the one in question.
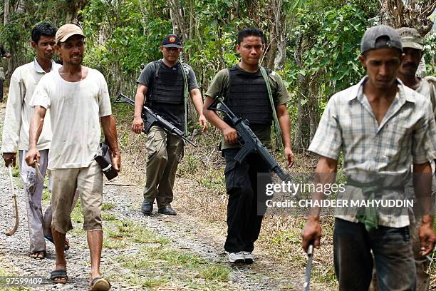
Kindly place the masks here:
[[(33, 108), (28, 103), (39, 80), (46, 73), (61, 67), (52, 60), (56, 31), (57, 29), (53, 24), (46, 22), (41, 22), (33, 27), (31, 46), (35, 49), (36, 56), (30, 63), (16, 68), (11, 76), (4, 117), (3, 138), (1, 140), (1, 153), (3, 153), (6, 167), (10, 164), (15, 165), (16, 152), (17, 149), (19, 150), (20, 176), (26, 197), (29, 256), (36, 260), (46, 257), (46, 242), (43, 231), (46, 225), (43, 223), (41, 207), (43, 180), (36, 175), (34, 168), (28, 167), (24, 163), (28, 150), (28, 126), (33, 113)], [(48, 114), (46, 118), (48, 121), (50, 120)], [(50, 123), (46, 122), (37, 145), (41, 155), (39, 168), (42, 175), (46, 173), (50, 141), (51, 127)], [(51, 217), (50, 207), (47, 208), (44, 216), (46, 218)], [(49, 235), (49, 233), (46, 233), (46, 235)]]

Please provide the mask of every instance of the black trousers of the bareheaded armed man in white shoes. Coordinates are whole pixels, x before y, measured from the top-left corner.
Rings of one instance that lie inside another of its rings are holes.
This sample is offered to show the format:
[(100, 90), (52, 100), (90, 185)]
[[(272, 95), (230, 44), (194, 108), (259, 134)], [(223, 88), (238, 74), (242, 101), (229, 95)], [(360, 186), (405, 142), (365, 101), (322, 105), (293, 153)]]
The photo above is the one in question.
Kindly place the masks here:
[[(251, 153), (242, 163), (234, 160), (239, 148), (222, 150), (226, 159), (227, 205), (227, 252), (252, 252), (259, 238), (262, 218), (266, 211), (266, 183), (271, 183), (271, 174), (264, 160)], [(258, 179), (258, 173), (263, 173)], [(259, 189), (259, 193), (258, 193)]]

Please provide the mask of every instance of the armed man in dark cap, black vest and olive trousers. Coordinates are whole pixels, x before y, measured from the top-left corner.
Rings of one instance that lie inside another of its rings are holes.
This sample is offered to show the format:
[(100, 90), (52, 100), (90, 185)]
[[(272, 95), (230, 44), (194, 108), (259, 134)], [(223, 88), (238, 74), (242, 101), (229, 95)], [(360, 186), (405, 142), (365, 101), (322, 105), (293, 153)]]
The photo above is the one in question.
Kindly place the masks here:
[[(142, 106), (147, 106), (181, 131), (187, 130), (187, 98), (191, 97), (199, 114), (199, 124), (203, 131), (207, 121), (203, 115), (202, 94), (192, 68), (179, 61), (182, 42), (175, 34), (168, 34), (160, 46), (163, 58), (152, 61), (142, 70), (137, 79), (135, 96), (135, 117), (132, 130), (141, 133), (144, 123), (141, 118)], [(146, 184), (142, 213), (151, 215), (153, 203), (157, 202), (157, 212), (176, 215), (170, 203), (173, 199), (177, 165), (182, 160), (184, 142), (175, 134), (152, 126), (147, 136)]]

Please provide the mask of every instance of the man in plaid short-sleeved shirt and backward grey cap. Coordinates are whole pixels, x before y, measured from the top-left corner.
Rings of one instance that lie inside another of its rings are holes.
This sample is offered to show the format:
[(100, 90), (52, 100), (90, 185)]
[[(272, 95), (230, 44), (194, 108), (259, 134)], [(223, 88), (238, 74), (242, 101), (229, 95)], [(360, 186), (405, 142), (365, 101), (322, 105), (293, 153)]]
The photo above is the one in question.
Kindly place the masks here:
[[(359, 56), (368, 76), (328, 101), (309, 147), (321, 155), (315, 183), (334, 182), (342, 150), (348, 183), (338, 199), (349, 205), (371, 202), (336, 208), (333, 252), (339, 290), (368, 290), (373, 256), (379, 290), (415, 290), (408, 209), (373, 206), (406, 199), (404, 184), (412, 164), (418, 201), (430, 201), (428, 161), (436, 158), (436, 123), (430, 101), (397, 80), (402, 58), (400, 36), (393, 28), (368, 29)], [(319, 200), (324, 195), (313, 197)], [(308, 215), (302, 232), (304, 250), (311, 241), (319, 246), (319, 212), (312, 209)], [(423, 208), (420, 219), (421, 252), (427, 255), (436, 240), (430, 209)]]

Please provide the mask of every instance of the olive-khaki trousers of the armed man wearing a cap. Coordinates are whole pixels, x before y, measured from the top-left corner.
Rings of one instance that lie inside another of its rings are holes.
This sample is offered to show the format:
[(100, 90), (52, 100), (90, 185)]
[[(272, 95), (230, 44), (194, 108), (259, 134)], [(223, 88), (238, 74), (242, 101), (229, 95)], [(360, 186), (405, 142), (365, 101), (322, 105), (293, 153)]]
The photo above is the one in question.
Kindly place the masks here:
[(147, 136), (147, 165), (144, 200), (154, 202), (157, 207), (170, 205), (174, 194), (177, 165), (183, 158), (185, 143), (175, 134), (167, 133), (159, 126), (152, 126)]

